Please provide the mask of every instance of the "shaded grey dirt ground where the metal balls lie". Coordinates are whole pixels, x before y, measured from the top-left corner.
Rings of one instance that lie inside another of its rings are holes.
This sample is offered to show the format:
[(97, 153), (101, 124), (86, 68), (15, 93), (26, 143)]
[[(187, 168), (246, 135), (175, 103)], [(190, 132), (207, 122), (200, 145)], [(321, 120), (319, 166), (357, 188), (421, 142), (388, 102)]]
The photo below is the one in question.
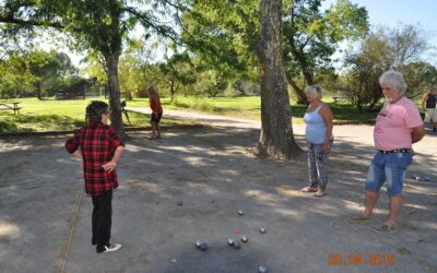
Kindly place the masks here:
[[(437, 134), (414, 145), (400, 232), (380, 235), (371, 227), (387, 216), (385, 189), (373, 223), (347, 223), (363, 209), (373, 127), (334, 127), (329, 194), (318, 199), (300, 192), (305, 159), (253, 156), (257, 122), (200, 122), (213, 126), (158, 141), (129, 133), (113, 200), (122, 249), (104, 254), (91, 245), (92, 204), (68, 135), (0, 136), (0, 272), (437, 272)], [(304, 127), (294, 131), (304, 144)], [(227, 246), (240, 235), (249, 241)]]

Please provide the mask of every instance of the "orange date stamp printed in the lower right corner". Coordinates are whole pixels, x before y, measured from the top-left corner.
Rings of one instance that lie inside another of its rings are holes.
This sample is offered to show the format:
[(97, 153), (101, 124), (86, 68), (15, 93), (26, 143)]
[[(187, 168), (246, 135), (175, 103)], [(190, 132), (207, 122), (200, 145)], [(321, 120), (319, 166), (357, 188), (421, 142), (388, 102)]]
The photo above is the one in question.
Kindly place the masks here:
[(341, 253), (329, 253), (328, 265), (395, 265), (395, 254), (392, 253), (369, 253), (362, 254), (359, 252), (343, 256)]

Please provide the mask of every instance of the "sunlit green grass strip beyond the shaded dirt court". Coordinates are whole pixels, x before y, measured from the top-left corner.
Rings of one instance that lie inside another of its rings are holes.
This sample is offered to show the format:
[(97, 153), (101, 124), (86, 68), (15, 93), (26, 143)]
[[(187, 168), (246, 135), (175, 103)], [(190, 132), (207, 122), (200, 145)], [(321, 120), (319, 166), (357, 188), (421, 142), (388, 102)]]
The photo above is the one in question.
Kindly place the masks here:
[[(85, 119), (85, 107), (91, 100), (105, 100), (104, 97), (93, 97), (75, 100), (55, 100), (46, 98), (14, 98), (2, 102), (20, 102), (20, 115), (12, 111), (0, 112), (0, 132), (26, 132), (26, 131), (58, 131), (73, 130), (81, 127)], [(376, 114), (359, 114), (354, 106), (347, 103), (334, 104), (330, 97), (326, 98), (330, 105), (335, 123), (374, 123)], [(134, 98), (129, 100), (130, 107), (149, 108), (149, 98)], [(169, 97), (162, 98), (165, 109), (197, 110), (228, 116), (232, 118), (260, 120), (261, 99), (259, 96), (245, 97), (191, 97), (176, 96), (173, 103)], [(305, 105), (296, 105), (291, 102), (293, 123), (303, 123), (306, 111)], [(150, 115), (129, 112), (132, 127), (149, 127)], [(125, 126), (129, 126), (123, 117)], [(162, 126), (193, 124), (181, 120), (163, 117)]]

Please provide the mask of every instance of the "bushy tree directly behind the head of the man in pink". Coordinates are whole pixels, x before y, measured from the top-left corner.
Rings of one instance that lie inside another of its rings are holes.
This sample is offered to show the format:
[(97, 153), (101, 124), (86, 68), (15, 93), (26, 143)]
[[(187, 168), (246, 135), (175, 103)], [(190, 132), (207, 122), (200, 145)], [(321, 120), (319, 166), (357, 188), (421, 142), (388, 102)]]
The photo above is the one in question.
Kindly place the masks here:
[(383, 71), (395, 69), (405, 75), (410, 86), (406, 95), (417, 96), (436, 79), (433, 66), (416, 62), (426, 48), (426, 39), (414, 26), (379, 27), (362, 40), (358, 50), (346, 56), (347, 72), (341, 88), (359, 111), (375, 111), (382, 97), (378, 79)]

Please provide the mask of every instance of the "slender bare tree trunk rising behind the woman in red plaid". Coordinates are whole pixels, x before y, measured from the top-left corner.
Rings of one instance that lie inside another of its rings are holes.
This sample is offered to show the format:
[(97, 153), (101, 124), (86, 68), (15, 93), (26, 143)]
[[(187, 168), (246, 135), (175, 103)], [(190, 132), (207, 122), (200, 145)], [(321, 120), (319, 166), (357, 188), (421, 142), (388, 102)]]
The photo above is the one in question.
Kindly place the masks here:
[(123, 134), (120, 84), (118, 81), (118, 58), (119, 56), (116, 54), (105, 56), (109, 90), (110, 123), (115, 127), (117, 132)]

